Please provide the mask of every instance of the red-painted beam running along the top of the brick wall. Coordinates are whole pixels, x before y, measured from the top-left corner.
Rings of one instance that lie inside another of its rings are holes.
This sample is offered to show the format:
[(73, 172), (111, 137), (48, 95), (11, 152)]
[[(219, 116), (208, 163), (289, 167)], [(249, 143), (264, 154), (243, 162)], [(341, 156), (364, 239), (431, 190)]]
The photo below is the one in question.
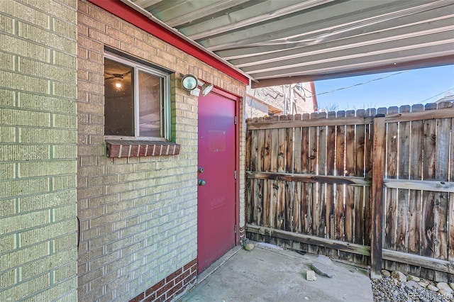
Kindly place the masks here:
[(159, 24), (155, 23), (150, 18), (147, 18), (142, 13), (135, 11), (132, 7), (124, 4), (118, 0), (88, 0), (95, 4), (96, 6), (101, 7), (105, 11), (109, 11), (109, 13), (113, 13), (118, 18), (122, 18), (124, 21), (137, 26), (138, 28), (145, 30), (147, 33), (154, 35), (161, 40), (169, 43), (172, 46), (177, 47), (179, 50), (186, 52), (193, 57), (205, 62), (206, 64), (210, 65), (218, 69), (219, 71), (228, 74), (229, 76), (233, 77), (233, 79), (237, 79), (241, 83), (248, 85), (249, 78), (245, 75), (241, 74), (240, 72), (236, 71), (235, 69), (229, 67), (224, 62), (216, 59), (215, 57), (209, 55), (207, 52), (200, 50), (195, 45), (192, 45), (187, 40), (180, 38), (175, 33), (172, 33), (170, 30), (160, 26)]

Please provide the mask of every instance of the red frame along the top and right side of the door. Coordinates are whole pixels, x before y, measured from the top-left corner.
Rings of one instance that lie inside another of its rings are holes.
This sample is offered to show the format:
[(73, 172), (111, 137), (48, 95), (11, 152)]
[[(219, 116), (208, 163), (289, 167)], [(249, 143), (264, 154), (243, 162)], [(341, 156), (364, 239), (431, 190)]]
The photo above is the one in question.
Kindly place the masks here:
[[(236, 226), (236, 234), (235, 237), (235, 245), (240, 244), (240, 104), (243, 101), (241, 96), (236, 94), (232, 94), (229, 91), (223, 90), (217, 86), (214, 86), (211, 90), (210, 94), (218, 94), (219, 96), (223, 96), (226, 99), (230, 99), (231, 101), (235, 102), (235, 116), (236, 116), (236, 124), (235, 124), (235, 169), (236, 169), (236, 179), (235, 179), (235, 215), (234, 221)], [(198, 118), (198, 117), (197, 117)], [(198, 142), (197, 142), (198, 143)], [(199, 156), (199, 155), (197, 155)], [(198, 201), (197, 201), (198, 202)], [(197, 213), (199, 215), (199, 213)], [(197, 234), (197, 237), (199, 234)]]

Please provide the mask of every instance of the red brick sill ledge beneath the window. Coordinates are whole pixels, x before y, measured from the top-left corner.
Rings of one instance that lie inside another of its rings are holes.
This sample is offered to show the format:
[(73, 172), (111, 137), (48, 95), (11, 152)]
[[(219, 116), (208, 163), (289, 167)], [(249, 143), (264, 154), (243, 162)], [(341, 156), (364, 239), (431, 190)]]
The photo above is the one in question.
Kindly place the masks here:
[(107, 157), (140, 157), (178, 155), (180, 145), (175, 142), (146, 140), (106, 140)]

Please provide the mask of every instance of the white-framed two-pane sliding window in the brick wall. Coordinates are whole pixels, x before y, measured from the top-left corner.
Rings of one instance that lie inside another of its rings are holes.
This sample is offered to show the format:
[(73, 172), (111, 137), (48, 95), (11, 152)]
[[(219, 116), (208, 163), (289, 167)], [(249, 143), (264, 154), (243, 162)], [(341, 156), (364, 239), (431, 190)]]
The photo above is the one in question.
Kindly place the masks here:
[(104, 135), (170, 139), (170, 74), (126, 57), (104, 57)]

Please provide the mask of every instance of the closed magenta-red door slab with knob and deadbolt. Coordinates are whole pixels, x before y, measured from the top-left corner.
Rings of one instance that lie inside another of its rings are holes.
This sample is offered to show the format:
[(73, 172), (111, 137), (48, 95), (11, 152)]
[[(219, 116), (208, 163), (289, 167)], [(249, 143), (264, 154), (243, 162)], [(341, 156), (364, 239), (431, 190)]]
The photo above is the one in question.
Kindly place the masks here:
[(235, 246), (236, 102), (218, 94), (199, 96), (199, 272)]

